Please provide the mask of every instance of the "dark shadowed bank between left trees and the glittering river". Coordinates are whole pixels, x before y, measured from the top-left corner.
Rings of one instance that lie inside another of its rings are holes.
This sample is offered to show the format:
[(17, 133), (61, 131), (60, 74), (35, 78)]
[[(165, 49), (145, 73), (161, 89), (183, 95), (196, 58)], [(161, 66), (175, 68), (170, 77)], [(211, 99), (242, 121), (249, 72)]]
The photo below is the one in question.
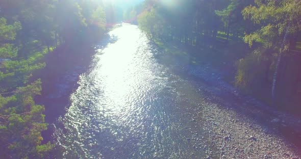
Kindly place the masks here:
[(37, 104), (45, 107), (45, 122), (48, 129), (42, 131), (43, 143), (53, 141), (54, 126), (60, 116), (66, 114), (70, 95), (79, 87), (80, 75), (89, 72), (95, 54), (99, 49), (118, 41), (118, 37), (106, 34), (96, 45), (63, 44), (45, 56), (46, 67), (37, 71), (35, 77), (41, 78), (42, 92), (35, 97)]

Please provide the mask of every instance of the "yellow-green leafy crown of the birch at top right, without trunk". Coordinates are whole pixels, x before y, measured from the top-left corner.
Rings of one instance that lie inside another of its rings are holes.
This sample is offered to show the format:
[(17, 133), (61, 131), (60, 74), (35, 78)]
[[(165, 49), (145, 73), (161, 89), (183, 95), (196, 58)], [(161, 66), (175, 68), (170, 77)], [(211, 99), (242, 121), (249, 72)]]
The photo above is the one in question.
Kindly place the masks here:
[(256, 1), (256, 6), (243, 9), (244, 19), (250, 19), (261, 26), (253, 33), (246, 34), (244, 41), (250, 46), (253, 42), (262, 42), (265, 47), (277, 47), (283, 41), (286, 29), (289, 34), (301, 31), (300, 1), (285, 0), (266, 2)]

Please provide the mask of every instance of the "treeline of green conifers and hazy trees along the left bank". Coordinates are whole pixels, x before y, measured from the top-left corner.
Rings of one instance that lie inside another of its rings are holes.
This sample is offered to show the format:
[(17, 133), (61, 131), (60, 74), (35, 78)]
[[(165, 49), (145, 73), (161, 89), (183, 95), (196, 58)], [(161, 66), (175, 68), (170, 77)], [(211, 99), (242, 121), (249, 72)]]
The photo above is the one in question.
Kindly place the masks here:
[[(0, 154), (1, 158), (43, 158), (47, 129), (43, 105), (35, 104), (45, 66), (43, 57), (60, 45), (99, 39), (106, 32), (101, 1), (2, 0), (0, 2)], [(48, 72), (51, 73), (51, 72)]]

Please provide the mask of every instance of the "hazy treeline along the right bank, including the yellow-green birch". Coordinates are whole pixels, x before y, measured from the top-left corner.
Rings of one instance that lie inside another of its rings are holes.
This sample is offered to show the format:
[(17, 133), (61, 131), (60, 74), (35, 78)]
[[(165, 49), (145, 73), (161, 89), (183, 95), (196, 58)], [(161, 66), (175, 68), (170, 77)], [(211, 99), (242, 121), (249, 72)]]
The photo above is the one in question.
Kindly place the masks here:
[(138, 23), (150, 38), (221, 52), (208, 61), (235, 55), (237, 88), (301, 111), (301, 1), (147, 0), (143, 8)]

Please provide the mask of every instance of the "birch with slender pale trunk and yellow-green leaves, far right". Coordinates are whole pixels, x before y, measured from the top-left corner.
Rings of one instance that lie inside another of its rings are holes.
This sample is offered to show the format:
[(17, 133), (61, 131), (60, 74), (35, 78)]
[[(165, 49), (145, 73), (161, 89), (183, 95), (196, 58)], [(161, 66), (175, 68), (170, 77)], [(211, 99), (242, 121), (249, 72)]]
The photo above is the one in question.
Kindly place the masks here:
[[(259, 29), (252, 33), (245, 34), (244, 42), (248, 43), (249, 46), (252, 46), (254, 42), (257, 42), (261, 43), (264, 48), (279, 50), (276, 51), (279, 52), (278, 54), (275, 54), (277, 56), (268, 56), (269, 61), (272, 62), (270, 63), (270, 68), (267, 72), (274, 71), (273, 83), (271, 84), (272, 97), (274, 97), (274, 90), (276, 82), (278, 81), (279, 66), (283, 56), (282, 54), (289, 52), (289, 49), (296, 45), (297, 35), (301, 32), (301, 3), (300, 1), (294, 0), (257, 0), (255, 3), (256, 5), (254, 6), (244, 8), (242, 14), (244, 19), (252, 20), (259, 26)], [(264, 54), (264, 52), (259, 51), (259, 54)], [(245, 60), (247, 59), (248, 57), (245, 58)], [(256, 72), (262, 70), (261, 67), (257, 67), (258, 65), (254, 65), (253, 69), (256, 70)], [(248, 78), (245, 76), (246, 73), (254, 74), (252, 73), (252, 71), (254, 71), (253, 69), (244, 70), (245, 73), (241, 73), (243, 68), (238, 68), (237, 82), (241, 83), (240, 81), (245, 81), (242, 80), (242, 76), (244, 76), (244, 79)], [(259, 76), (257, 78), (261, 77)], [(252, 80), (252, 77), (249, 77), (248, 80)], [(248, 86), (252, 87), (252, 85)]]

